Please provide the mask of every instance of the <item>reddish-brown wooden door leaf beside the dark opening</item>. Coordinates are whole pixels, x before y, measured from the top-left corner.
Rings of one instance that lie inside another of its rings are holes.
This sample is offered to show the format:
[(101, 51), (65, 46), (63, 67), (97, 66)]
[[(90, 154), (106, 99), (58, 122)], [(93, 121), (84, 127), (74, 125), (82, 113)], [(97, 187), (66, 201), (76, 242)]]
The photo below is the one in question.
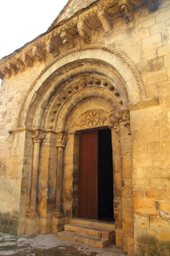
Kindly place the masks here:
[(79, 218), (98, 218), (97, 176), (98, 131), (82, 133), (79, 145)]

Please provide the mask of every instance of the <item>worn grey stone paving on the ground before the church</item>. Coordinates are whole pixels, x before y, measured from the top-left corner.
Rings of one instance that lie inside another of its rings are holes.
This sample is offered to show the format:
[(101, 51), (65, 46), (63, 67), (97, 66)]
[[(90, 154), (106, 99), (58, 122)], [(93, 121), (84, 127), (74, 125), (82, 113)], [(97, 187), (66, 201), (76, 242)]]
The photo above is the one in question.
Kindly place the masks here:
[(12, 236), (0, 233), (0, 256), (125, 256), (111, 245), (105, 249), (57, 239), (56, 235)]

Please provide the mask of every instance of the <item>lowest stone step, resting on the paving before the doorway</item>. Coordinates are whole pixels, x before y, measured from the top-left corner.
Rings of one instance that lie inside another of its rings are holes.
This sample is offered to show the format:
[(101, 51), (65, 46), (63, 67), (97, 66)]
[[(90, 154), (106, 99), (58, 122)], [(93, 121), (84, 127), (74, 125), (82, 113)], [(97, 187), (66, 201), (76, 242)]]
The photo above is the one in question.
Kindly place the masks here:
[(69, 231), (59, 232), (57, 237), (59, 239), (74, 241), (81, 244), (87, 244), (87, 245), (100, 247), (100, 248), (105, 248), (109, 244), (109, 240), (106, 238), (88, 236), (88, 235), (78, 234), (78, 233), (69, 232)]

